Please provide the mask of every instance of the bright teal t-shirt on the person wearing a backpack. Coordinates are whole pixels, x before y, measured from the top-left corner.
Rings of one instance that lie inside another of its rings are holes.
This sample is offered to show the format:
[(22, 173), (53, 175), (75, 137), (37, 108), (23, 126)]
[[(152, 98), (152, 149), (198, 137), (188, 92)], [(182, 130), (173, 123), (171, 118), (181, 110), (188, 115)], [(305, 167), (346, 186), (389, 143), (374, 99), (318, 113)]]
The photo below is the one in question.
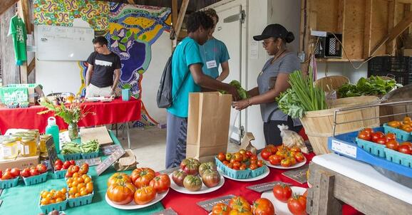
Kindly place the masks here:
[[(199, 46), (192, 38), (184, 38), (177, 44), (172, 56), (172, 95), (175, 99), (168, 111), (177, 117), (187, 117), (189, 93), (201, 91), (200, 86), (195, 83), (189, 70), (189, 66), (195, 63), (202, 64)], [(187, 77), (185, 78), (186, 74)], [(180, 85), (182, 86), (180, 87)], [(179, 87), (180, 91), (176, 94)]]

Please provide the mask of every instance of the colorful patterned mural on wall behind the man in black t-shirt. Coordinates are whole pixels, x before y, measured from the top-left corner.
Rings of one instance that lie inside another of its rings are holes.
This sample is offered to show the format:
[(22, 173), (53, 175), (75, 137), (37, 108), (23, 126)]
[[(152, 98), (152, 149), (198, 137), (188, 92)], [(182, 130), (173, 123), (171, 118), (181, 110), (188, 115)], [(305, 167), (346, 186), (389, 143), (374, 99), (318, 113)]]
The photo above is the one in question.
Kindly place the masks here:
[[(73, 26), (73, 19), (87, 21), (96, 35), (105, 36), (110, 50), (121, 60), (120, 88), (130, 88), (135, 98), (142, 96), (142, 81), (152, 58), (150, 46), (164, 31), (170, 31), (169, 8), (108, 3), (105, 1), (34, 0), (36, 24)], [(78, 62), (80, 94), (85, 94), (87, 63)], [(135, 127), (156, 125), (142, 103), (142, 120)]]

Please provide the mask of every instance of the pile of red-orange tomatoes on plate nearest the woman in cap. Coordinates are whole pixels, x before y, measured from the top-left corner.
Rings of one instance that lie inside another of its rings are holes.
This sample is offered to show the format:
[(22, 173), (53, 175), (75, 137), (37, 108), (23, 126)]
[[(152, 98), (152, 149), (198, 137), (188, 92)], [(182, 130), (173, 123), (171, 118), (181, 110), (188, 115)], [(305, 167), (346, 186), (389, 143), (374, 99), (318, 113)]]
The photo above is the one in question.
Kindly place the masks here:
[(305, 158), (302, 154), (302, 151), (299, 147), (286, 147), (284, 145), (280, 145), (278, 147), (274, 145), (267, 145), (262, 152), (260, 152), (260, 156), (264, 160), (267, 160), (272, 165), (281, 165), (282, 167), (291, 167), (298, 162), (304, 162)]

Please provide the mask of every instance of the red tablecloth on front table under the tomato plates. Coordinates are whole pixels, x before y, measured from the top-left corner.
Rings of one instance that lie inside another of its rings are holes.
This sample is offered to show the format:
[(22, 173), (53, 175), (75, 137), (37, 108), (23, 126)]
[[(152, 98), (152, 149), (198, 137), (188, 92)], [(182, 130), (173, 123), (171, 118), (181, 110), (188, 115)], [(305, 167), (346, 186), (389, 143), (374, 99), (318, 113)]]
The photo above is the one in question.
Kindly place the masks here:
[[(314, 154), (311, 153), (306, 156), (307, 163), (314, 157)], [(181, 194), (179, 192), (175, 192), (175, 190), (170, 189), (168, 195), (165, 199), (162, 200), (163, 206), (165, 208), (171, 207), (173, 210), (177, 212), (177, 214), (208, 214), (207, 211), (202, 209), (200, 206), (197, 206), (197, 202), (204, 201), (207, 199), (213, 199), (219, 196), (226, 196), (229, 194), (243, 196), (249, 203), (252, 203), (255, 199), (258, 199), (261, 194), (258, 192), (254, 192), (252, 190), (247, 189), (246, 187), (253, 185), (253, 184), (261, 184), (264, 182), (274, 182), (274, 181), (282, 181), (293, 184), (294, 186), (305, 187), (307, 188), (307, 184), (299, 184), (288, 177), (284, 177), (282, 172), (284, 169), (274, 169), (269, 168), (270, 174), (265, 177), (264, 179), (260, 179), (256, 182), (237, 182), (232, 179), (225, 178), (225, 184), (223, 187), (218, 189), (215, 192), (211, 192), (208, 194), (200, 194), (200, 195), (190, 195), (190, 194)], [(287, 170), (287, 169), (286, 169)], [(342, 214), (361, 214), (356, 211), (354, 208), (348, 205), (344, 205), (342, 209)]]

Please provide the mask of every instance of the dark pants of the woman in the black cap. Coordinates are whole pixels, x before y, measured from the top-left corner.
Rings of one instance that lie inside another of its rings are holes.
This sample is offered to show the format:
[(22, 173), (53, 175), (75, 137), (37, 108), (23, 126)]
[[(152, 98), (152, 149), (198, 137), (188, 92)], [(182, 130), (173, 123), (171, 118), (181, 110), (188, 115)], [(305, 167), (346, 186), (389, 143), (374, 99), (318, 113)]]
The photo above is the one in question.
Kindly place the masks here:
[(277, 127), (277, 125), (282, 124), (289, 126), (289, 130), (294, 132), (299, 132), (302, 130), (302, 125), (296, 127), (293, 126), (293, 120), (291, 117), (288, 117), (287, 121), (271, 120), (269, 122), (263, 122), (263, 133), (266, 145), (282, 145), (282, 137), (280, 136), (279, 127)]

